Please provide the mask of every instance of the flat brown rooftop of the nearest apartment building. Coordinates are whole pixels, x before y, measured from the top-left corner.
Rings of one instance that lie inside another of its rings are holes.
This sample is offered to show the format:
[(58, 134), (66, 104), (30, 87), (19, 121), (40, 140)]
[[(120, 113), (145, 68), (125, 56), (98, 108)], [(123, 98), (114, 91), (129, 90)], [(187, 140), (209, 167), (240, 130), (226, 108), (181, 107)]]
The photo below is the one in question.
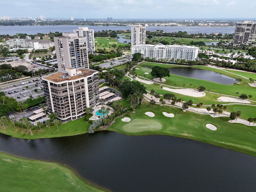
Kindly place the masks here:
[[(73, 68), (69, 68), (69, 69), (73, 69)], [(58, 82), (64, 82), (66, 80), (76, 80), (82, 77), (87, 77), (97, 72), (95, 70), (89, 70), (89, 69), (77, 69), (76, 71), (81, 71), (82, 73), (75, 76), (67, 76), (63, 78), (63, 72), (57, 72), (57, 73), (51, 74), (50, 76), (43, 77), (43, 79), (58, 83)]]

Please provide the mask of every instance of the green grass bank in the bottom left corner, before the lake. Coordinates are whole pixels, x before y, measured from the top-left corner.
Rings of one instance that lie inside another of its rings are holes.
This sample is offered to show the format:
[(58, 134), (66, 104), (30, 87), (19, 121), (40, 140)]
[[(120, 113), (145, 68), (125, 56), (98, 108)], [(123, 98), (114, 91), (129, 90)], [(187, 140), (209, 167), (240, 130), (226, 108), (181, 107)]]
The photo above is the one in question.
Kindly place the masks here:
[(53, 162), (28, 160), (0, 153), (2, 192), (102, 192), (72, 170)]

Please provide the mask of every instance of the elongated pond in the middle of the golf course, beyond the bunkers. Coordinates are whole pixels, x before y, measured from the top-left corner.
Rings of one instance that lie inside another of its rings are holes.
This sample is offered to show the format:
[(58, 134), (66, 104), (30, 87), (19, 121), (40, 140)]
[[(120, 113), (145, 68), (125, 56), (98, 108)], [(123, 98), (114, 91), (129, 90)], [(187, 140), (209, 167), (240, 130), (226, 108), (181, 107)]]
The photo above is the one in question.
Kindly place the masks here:
[[(149, 66), (144, 66), (145, 68), (152, 68)], [(226, 75), (216, 73), (213, 71), (203, 70), (203, 69), (197, 69), (197, 68), (191, 68), (191, 67), (173, 67), (168, 68), (170, 74), (184, 76), (184, 77), (190, 77), (195, 79), (201, 79), (206, 81), (211, 81), (215, 83), (221, 83), (226, 85), (232, 85), (236, 82), (234, 78), (228, 77)]]

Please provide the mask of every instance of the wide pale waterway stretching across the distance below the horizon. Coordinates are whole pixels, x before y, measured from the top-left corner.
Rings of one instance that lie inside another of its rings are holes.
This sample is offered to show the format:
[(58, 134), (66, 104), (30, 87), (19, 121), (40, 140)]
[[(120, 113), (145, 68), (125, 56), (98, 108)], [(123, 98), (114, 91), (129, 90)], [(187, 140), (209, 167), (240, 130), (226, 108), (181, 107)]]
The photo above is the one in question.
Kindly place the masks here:
[[(49, 32), (66, 32), (70, 33), (73, 32), (73, 29), (78, 29), (77, 25), (45, 25), (45, 26), (0, 26), (0, 35), (15, 35), (18, 33), (25, 33), (25, 34), (37, 34), (37, 33), (49, 33)], [(88, 27), (89, 29), (94, 29), (94, 32), (102, 31), (102, 30), (131, 30), (130, 26), (84, 26)], [(232, 34), (235, 31), (234, 26), (230, 27), (180, 27), (180, 26), (150, 26), (146, 27), (148, 31), (156, 31), (156, 30), (163, 30), (164, 32), (178, 32), (178, 31), (186, 31), (188, 33), (193, 34), (210, 34), (210, 33), (222, 33), (222, 34)]]

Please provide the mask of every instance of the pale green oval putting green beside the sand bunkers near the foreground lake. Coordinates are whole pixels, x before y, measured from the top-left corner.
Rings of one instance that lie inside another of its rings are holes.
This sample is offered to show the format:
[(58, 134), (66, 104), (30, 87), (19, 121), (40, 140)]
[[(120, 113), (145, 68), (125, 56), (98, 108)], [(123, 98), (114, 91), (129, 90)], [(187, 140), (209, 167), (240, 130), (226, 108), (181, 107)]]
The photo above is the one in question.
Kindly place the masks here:
[(157, 131), (162, 129), (162, 124), (156, 120), (134, 119), (130, 123), (125, 124), (123, 129), (131, 133), (142, 131)]

